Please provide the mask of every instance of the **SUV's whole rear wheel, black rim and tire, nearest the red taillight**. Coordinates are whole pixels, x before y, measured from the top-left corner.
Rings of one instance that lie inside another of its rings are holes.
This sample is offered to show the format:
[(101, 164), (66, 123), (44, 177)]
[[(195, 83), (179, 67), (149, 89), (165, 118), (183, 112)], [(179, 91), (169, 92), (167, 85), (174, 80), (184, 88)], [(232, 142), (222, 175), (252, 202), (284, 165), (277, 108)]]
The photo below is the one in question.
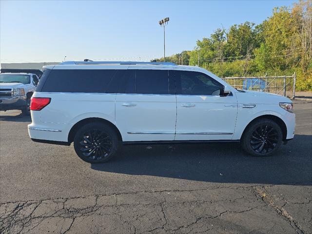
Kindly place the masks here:
[(103, 163), (116, 155), (119, 141), (116, 132), (104, 123), (87, 123), (74, 137), (76, 154), (89, 163)]

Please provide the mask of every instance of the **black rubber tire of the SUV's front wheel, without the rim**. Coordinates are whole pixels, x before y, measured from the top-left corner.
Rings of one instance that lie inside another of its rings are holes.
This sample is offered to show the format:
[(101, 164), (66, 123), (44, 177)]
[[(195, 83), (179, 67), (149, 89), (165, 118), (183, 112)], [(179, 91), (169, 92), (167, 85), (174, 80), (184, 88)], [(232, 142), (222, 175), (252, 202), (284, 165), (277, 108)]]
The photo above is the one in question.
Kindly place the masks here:
[[(278, 134), (278, 142), (277, 142), (275, 148), (271, 152), (266, 153), (266, 154), (260, 154), (258, 152), (255, 152), (254, 149), (252, 148), (251, 144), (250, 144), (250, 137), (251, 137), (252, 133), (254, 132), (254, 130), (256, 128), (260, 127), (261, 125), (272, 126), (274, 129), (276, 129), (277, 134)], [(282, 133), (280, 126), (271, 119), (259, 119), (256, 122), (254, 122), (251, 126), (249, 126), (248, 129), (246, 130), (246, 132), (244, 133), (243, 141), (242, 141), (242, 147), (244, 148), (244, 150), (247, 153), (249, 153), (253, 156), (266, 157), (266, 156), (270, 156), (274, 152), (276, 152), (280, 148), (280, 146), (282, 145), (282, 142), (283, 142), (283, 133)]]

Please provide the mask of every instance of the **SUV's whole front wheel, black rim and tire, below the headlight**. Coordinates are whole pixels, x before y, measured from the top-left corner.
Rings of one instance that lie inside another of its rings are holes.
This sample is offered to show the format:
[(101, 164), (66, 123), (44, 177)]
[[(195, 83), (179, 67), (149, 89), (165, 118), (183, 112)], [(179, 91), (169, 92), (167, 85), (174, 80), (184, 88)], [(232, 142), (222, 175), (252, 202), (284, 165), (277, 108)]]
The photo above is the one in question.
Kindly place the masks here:
[(270, 156), (283, 141), (280, 126), (271, 119), (262, 118), (247, 127), (242, 138), (242, 148), (252, 156)]

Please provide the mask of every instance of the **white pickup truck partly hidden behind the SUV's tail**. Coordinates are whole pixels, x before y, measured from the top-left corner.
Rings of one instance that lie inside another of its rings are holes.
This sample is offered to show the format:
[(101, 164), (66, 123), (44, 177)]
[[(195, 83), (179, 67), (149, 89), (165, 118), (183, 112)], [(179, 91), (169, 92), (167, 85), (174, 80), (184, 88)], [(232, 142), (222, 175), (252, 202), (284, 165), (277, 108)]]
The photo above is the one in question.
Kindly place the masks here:
[(1, 73), (0, 110), (21, 110), (23, 115), (30, 115), (30, 98), (38, 82), (32, 73)]

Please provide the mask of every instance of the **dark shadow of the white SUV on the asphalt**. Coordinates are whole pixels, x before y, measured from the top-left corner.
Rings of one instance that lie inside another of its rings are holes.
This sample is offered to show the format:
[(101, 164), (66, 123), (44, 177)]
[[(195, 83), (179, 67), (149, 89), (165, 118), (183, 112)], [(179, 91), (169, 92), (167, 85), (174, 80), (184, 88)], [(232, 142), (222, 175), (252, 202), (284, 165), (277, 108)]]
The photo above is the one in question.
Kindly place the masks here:
[(248, 156), (237, 143), (123, 146), (111, 161), (91, 168), (218, 183), (312, 185), (311, 142), (312, 136), (296, 135), (270, 157)]

